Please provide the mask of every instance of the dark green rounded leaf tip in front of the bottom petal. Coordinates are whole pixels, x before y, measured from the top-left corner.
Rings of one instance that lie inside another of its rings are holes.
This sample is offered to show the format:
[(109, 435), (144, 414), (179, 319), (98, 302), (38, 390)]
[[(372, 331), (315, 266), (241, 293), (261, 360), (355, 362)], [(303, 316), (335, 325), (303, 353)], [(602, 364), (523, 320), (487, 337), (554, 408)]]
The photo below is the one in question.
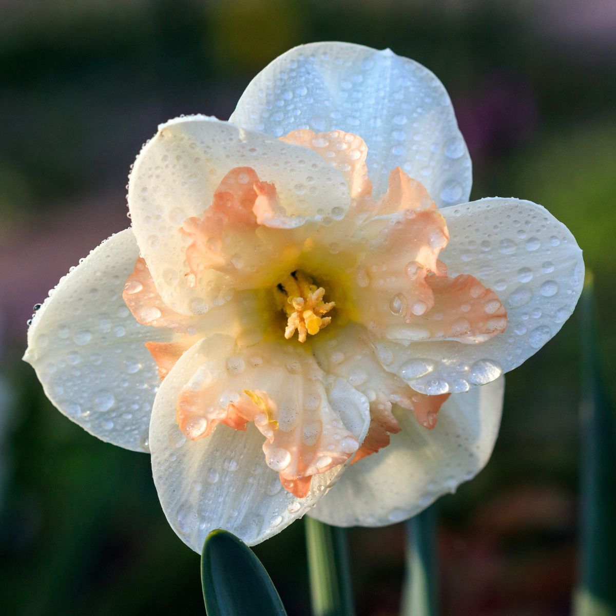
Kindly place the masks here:
[(226, 530), (213, 530), (203, 544), (201, 584), (208, 616), (286, 616), (259, 559)]

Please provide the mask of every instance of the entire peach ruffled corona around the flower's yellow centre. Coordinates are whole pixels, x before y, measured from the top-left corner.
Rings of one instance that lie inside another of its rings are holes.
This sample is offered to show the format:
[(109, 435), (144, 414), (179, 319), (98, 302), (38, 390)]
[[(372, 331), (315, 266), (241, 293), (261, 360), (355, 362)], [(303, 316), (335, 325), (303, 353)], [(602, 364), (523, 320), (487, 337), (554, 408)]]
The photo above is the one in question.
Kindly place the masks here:
[[(186, 273), (188, 286), (196, 288), (202, 275), (217, 270), (227, 277), (228, 286), (246, 291), (252, 288), (259, 295), (278, 278), (280, 282), (272, 286), (273, 304), (265, 304), (272, 307), (264, 309), (262, 323), (265, 339), (279, 341), (290, 340), (297, 333), (298, 341), (304, 343), (328, 326), (335, 333), (331, 317), (334, 307), (342, 323), (356, 322), (373, 336), (402, 341), (482, 342), (505, 330), (506, 312), (493, 291), (469, 275), (447, 277), (447, 268), (439, 261), (449, 238), (447, 224), (423, 185), (396, 168), (389, 176), (386, 194), (371, 205), (367, 147), (359, 136), (304, 130), (294, 131), (283, 140), (310, 148), (341, 169), (354, 198), (350, 220), (325, 229), (314, 228), (306, 221), (299, 224), (286, 217), (275, 181), (260, 180), (250, 167), (231, 169), (214, 191), (212, 205), (203, 216), (191, 217), (179, 228), (189, 240), (185, 249), (190, 267)], [(323, 264), (320, 256), (326, 243), (341, 235), (347, 241), (340, 246), (339, 258)], [(276, 249), (282, 251), (282, 259), (276, 258)], [(281, 261), (291, 270), (282, 278)], [(314, 283), (310, 275), (313, 271), (325, 275), (336, 297), (341, 297), (339, 305), (326, 301), (326, 289)], [(141, 257), (126, 283), (124, 299), (140, 322), (167, 325), (178, 334), (172, 342), (147, 344), (163, 378), (204, 326), (196, 321), (191, 326), (189, 317), (164, 306)], [(284, 318), (272, 316), (272, 310)], [(282, 342), (266, 347), (270, 364), (275, 363), (272, 358), (279, 344)], [(370, 347), (370, 339), (365, 344)], [(257, 352), (261, 358), (262, 349), (256, 344), (238, 352)], [(245, 365), (246, 360), (242, 363)], [(288, 431), (278, 428), (281, 392), (277, 388), (284, 386), (263, 386), (267, 380), (264, 372), (274, 370), (272, 365), (251, 366), (250, 375), (244, 370), (231, 386), (224, 375), (202, 367), (179, 397), (177, 421), (193, 440), (209, 436), (217, 424), (245, 430), (246, 424), (253, 422), (266, 439), (267, 464), (280, 474), (286, 490), (298, 497), (307, 495), (314, 474), (351, 458), (362, 460), (389, 444), (389, 435), (400, 430), (387, 399), (392, 391), (400, 391), (397, 404), (413, 413), (426, 429), (436, 426), (439, 408), (448, 397), (419, 394), (408, 385), (392, 388), (384, 373), (379, 382), (384, 399), (379, 394), (370, 405), (371, 423), (363, 444), (342, 423), (332, 423), (328, 407), (319, 403), (310, 410), (306, 402), (294, 403), (294, 426), (303, 426), (304, 436), (289, 444)], [(304, 368), (298, 370), (305, 373)], [(309, 378), (320, 378), (317, 373)], [(219, 391), (223, 383), (226, 393)], [(306, 388), (305, 379), (303, 383)], [(328, 424), (329, 432), (323, 429)], [(306, 436), (312, 434), (311, 430), (320, 436)], [(323, 445), (325, 437), (327, 444)]]

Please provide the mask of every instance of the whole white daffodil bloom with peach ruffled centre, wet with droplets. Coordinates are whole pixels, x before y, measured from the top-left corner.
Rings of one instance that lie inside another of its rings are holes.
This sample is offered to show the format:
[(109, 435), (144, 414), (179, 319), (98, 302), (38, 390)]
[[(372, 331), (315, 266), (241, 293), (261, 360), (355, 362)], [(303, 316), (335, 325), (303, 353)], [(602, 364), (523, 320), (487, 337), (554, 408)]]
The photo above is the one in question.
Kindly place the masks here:
[(466, 203), (470, 188), (430, 71), (297, 47), (228, 122), (160, 126), (131, 227), (60, 280), (25, 359), (70, 419), (152, 454), (197, 551), (214, 528), (252, 545), (309, 510), (400, 521), (484, 466), (501, 375), (582, 288), (564, 225), (530, 201)]

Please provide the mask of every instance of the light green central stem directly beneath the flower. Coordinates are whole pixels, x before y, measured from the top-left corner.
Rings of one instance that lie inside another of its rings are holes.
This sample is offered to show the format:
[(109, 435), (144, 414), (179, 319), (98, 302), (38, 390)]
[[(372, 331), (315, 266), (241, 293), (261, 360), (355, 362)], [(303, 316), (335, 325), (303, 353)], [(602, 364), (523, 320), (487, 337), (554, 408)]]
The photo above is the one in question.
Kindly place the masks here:
[(354, 616), (346, 529), (304, 519), (312, 614)]

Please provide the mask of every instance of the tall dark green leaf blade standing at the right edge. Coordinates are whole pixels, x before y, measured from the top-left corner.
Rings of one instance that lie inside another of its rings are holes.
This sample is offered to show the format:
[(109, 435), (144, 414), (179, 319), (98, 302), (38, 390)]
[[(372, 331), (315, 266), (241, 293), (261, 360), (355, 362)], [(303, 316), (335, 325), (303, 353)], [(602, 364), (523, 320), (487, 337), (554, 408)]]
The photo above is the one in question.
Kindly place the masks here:
[(576, 616), (616, 616), (616, 421), (601, 382), (594, 331), (593, 276), (580, 301), (582, 319), (582, 528)]

